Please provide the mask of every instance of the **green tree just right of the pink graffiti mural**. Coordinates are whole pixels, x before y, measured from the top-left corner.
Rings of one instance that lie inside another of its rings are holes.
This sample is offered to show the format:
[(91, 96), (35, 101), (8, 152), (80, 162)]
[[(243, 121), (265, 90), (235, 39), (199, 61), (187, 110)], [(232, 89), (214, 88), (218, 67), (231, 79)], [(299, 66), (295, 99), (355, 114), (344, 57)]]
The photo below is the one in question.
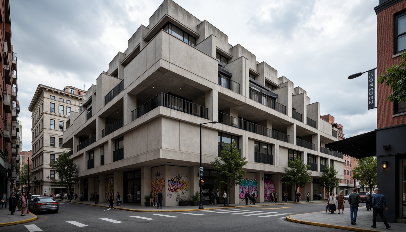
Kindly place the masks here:
[(308, 171), (310, 165), (304, 164), (301, 159), (297, 158), (294, 160), (288, 160), (287, 162), (288, 167), (285, 167), (285, 174), (283, 174), (282, 182), (292, 186), (296, 193), (299, 187), (306, 187), (306, 184), (311, 182), (311, 172)]

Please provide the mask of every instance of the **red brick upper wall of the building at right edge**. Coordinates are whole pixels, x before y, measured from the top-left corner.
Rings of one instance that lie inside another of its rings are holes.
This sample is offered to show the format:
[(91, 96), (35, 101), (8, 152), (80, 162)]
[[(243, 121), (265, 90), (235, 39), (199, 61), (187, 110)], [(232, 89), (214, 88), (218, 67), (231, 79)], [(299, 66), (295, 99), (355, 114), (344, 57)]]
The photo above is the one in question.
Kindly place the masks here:
[[(394, 15), (406, 9), (406, 0), (398, 2), (377, 14), (377, 78), (386, 67), (399, 64), (402, 56), (394, 55)], [(385, 84), (377, 84), (377, 120), (376, 128), (406, 123), (406, 115), (393, 117), (393, 102), (386, 99), (392, 90)]]

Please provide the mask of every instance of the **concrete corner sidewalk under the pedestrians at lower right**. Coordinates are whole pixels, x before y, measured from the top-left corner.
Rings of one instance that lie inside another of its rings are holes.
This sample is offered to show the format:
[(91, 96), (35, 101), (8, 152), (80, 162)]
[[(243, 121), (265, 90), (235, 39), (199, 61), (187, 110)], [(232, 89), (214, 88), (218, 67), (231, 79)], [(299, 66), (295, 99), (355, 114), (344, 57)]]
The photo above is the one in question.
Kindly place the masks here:
[[(351, 225), (350, 219), (350, 208), (346, 208), (343, 214), (330, 214), (329, 212), (312, 212), (306, 214), (290, 215), (286, 217), (288, 221), (293, 221), (296, 223), (302, 223), (307, 225), (317, 225), (328, 228), (335, 228), (341, 230), (352, 230), (352, 231), (396, 231), (396, 232), (406, 232), (406, 224), (404, 223), (389, 223), (391, 228), (386, 230), (386, 226), (383, 222), (376, 222), (376, 228), (372, 228), (372, 215), (373, 211), (367, 211), (365, 207), (359, 207), (356, 225)], [(377, 219), (380, 217), (378, 215)]]

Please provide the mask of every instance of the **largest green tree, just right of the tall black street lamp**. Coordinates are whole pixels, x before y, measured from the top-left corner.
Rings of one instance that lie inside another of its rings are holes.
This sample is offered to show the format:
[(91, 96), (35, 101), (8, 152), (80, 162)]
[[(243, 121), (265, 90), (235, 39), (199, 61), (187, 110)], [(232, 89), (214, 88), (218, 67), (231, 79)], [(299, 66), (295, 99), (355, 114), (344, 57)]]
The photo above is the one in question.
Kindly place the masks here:
[[(227, 194), (233, 186), (241, 184), (242, 178), (244, 178), (246, 171), (244, 166), (248, 163), (246, 157), (241, 158), (240, 150), (235, 148), (237, 144), (231, 143), (221, 151), (220, 157), (215, 158), (210, 162), (213, 165), (213, 169), (216, 170), (216, 181), (227, 187)], [(227, 206), (229, 206), (230, 197), (227, 197)]]

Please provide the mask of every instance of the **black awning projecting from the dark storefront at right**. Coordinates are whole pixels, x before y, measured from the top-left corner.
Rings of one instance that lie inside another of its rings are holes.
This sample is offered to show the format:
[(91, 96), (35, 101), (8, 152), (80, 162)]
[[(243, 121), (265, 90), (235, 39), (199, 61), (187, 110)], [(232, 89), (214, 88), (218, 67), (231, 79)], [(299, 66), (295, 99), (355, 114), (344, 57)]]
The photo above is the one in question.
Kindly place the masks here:
[(355, 158), (376, 156), (376, 130), (327, 143), (326, 147)]

